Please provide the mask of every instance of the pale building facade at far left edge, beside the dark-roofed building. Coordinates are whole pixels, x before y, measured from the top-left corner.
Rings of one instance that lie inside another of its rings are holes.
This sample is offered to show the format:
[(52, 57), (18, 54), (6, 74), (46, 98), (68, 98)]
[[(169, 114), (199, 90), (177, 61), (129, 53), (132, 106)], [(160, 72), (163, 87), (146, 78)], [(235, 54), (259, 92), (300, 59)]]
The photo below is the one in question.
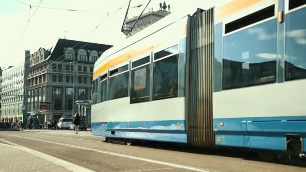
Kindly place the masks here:
[(2, 122), (17, 123), (22, 120), (23, 93), (24, 64), (5, 69), (2, 72)]

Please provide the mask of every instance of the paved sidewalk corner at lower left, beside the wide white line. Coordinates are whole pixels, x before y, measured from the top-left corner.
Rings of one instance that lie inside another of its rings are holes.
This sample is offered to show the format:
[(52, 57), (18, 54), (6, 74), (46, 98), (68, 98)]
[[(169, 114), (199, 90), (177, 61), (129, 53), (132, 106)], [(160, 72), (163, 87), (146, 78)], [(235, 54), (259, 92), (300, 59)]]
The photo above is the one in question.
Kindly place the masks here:
[(22, 148), (0, 144), (0, 172), (6, 171), (69, 171)]

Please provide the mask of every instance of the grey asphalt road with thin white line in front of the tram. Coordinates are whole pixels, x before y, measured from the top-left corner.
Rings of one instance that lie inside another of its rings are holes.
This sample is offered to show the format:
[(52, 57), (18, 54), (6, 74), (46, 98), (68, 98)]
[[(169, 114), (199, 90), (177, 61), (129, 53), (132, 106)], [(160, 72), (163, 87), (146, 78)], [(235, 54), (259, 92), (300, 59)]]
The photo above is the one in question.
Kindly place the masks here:
[(248, 151), (169, 143), (127, 146), (106, 143), (90, 131), (0, 132), (0, 139), (95, 171), (306, 171), (305, 160), (261, 162)]

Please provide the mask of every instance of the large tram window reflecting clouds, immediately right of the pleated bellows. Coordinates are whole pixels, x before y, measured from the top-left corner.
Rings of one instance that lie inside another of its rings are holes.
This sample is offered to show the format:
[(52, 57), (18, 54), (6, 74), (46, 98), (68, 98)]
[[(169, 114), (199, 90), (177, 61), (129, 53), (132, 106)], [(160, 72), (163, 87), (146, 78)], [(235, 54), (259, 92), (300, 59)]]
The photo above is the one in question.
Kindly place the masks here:
[(224, 37), (223, 90), (276, 81), (276, 26), (271, 19)]

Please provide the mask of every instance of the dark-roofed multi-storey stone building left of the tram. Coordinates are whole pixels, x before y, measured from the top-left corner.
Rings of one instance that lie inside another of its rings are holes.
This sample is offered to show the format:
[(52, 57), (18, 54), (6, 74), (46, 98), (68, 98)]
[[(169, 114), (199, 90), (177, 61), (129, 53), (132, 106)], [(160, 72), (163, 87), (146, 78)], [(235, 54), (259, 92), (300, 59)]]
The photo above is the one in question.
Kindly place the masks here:
[[(52, 118), (71, 118), (73, 102), (91, 100), (94, 63), (110, 47), (59, 39), (52, 52), (39, 49), (31, 54), (28, 113), (40, 123)], [(40, 105), (48, 104), (50, 109), (40, 109)], [(77, 111), (74, 106), (74, 113)]]

